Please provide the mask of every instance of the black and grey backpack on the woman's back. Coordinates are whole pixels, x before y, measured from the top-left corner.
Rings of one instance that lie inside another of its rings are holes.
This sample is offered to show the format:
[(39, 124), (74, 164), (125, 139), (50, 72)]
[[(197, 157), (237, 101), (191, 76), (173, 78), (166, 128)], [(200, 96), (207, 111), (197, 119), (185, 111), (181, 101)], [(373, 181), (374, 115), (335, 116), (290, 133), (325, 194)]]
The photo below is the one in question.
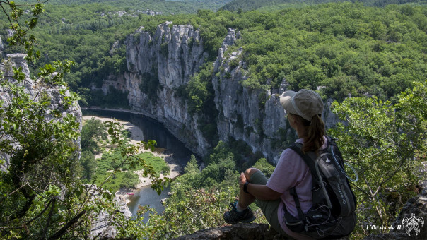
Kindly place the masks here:
[(315, 239), (339, 239), (348, 236), (356, 226), (356, 197), (351, 191), (347, 180), (349, 176), (344, 171), (344, 161), (335, 140), (327, 137), (327, 148), (320, 150), (319, 155), (315, 152), (304, 154), (300, 143), (288, 147), (303, 158), (312, 174), (312, 208), (304, 214), (295, 187), (290, 192), (299, 219), (284, 207), (283, 221), (293, 232)]

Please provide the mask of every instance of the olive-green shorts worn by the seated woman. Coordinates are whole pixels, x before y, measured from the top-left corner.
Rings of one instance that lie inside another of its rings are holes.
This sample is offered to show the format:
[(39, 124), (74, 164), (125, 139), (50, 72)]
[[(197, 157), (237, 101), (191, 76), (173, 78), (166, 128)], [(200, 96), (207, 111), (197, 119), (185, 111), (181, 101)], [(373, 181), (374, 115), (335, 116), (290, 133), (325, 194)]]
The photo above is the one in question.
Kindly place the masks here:
[[(251, 184), (259, 184), (259, 185), (265, 185), (267, 184), (267, 181), (269, 181), (269, 178), (265, 176), (261, 171), (255, 172), (250, 177), (250, 183)], [(255, 204), (259, 208), (261, 208), (262, 213), (264, 213), (265, 218), (273, 227), (276, 232), (279, 232), (282, 236), (288, 236), (283, 229), (280, 226), (279, 219), (277, 217), (277, 210), (279, 210), (279, 203), (281, 199), (277, 200), (271, 200), (271, 201), (265, 201), (265, 200), (255, 200)]]

